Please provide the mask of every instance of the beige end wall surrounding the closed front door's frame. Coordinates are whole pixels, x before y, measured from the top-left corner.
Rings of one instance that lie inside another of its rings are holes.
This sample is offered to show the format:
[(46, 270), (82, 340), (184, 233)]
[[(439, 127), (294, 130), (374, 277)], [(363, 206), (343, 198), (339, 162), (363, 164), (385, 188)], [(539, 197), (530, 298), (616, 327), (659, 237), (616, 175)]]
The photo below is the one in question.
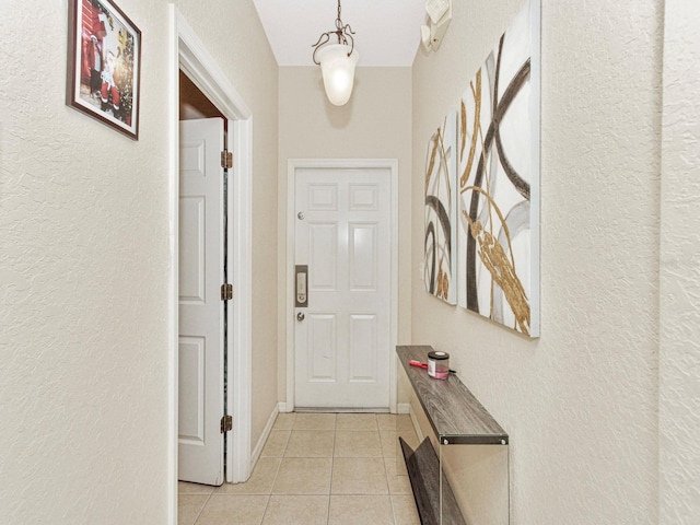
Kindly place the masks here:
[[(311, 55), (310, 55), (311, 57)], [(311, 59), (311, 58), (310, 58)], [(398, 342), (410, 338), (411, 70), (358, 68), (350, 102), (332, 106), (320, 70), (280, 68), (279, 100), (279, 398), (287, 399), (285, 271), (289, 159), (398, 159)], [(289, 261), (289, 264), (293, 264)], [(393, 351), (393, 350), (392, 350)], [(408, 401), (401, 393), (399, 401)]]

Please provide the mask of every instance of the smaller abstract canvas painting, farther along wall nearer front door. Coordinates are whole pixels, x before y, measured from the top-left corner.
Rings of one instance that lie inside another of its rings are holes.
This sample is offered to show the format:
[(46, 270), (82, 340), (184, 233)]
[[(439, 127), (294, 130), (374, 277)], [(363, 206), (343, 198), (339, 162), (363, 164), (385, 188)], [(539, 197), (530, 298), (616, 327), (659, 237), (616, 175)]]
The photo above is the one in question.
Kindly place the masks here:
[(457, 113), (450, 112), (428, 143), (423, 281), (428, 293), (457, 304)]

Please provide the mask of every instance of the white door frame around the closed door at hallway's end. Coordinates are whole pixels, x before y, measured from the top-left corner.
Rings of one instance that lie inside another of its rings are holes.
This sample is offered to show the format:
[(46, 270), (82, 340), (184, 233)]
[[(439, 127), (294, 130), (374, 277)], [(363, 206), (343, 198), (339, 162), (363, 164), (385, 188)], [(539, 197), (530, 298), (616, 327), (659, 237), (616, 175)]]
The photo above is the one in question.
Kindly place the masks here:
[(296, 171), (323, 168), (388, 170), (390, 185), (389, 211), (389, 411), (397, 412), (397, 359), (398, 341), (398, 160), (397, 159), (290, 159), (287, 162), (287, 402), (284, 411), (294, 410), (294, 215)]

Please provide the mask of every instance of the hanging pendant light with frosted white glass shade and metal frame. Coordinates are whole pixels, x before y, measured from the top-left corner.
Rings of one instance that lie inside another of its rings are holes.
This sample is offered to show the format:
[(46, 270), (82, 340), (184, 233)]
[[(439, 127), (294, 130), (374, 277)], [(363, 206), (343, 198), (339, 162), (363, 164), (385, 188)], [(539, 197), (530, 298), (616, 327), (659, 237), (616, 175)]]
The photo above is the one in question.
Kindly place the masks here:
[[(332, 38), (330, 35), (336, 35), (337, 44), (329, 44)], [(314, 63), (320, 66), (326, 96), (336, 106), (345, 105), (352, 94), (354, 67), (360, 58), (354, 50), (352, 35), (354, 32), (350, 24), (343, 24), (340, 20), (340, 0), (338, 0), (336, 31), (323, 33), (312, 46), (314, 48), (312, 58)]]

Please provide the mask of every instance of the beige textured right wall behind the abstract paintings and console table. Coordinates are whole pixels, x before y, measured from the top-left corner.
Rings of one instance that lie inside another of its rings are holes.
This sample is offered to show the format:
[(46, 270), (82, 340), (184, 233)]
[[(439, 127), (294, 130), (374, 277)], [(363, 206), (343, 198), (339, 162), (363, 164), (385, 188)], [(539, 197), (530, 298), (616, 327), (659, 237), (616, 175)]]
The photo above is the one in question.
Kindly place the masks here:
[(520, 3), (454, 2), (413, 65), (412, 342), (510, 433), (512, 523), (656, 523), (662, 2), (542, 0), (541, 338), (417, 278), (423, 144)]

